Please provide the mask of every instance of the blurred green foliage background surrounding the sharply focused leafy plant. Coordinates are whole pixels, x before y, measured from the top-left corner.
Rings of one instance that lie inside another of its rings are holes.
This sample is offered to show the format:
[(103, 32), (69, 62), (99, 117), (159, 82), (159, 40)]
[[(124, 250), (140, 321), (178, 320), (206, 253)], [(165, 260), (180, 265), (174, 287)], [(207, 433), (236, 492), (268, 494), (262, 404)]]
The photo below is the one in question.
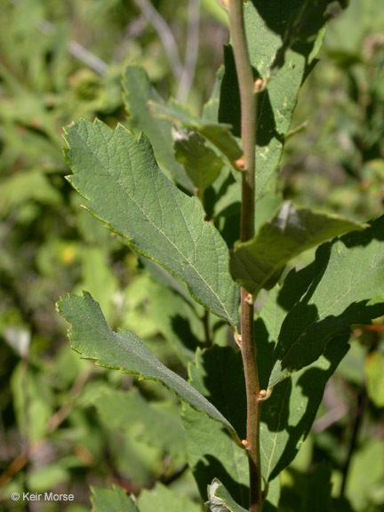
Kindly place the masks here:
[[(225, 13), (215, 0), (0, 0), (0, 9), (0, 510), (27, 509), (9, 500), (23, 491), (76, 496), (72, 504), (29, 503), (32, 511), (88, 510), (90, 484), (138, 494), (163, 483), (198, 501), (178, 402), (68, 348), (54, 303), (85, 289), (111, 326), (137, 332), (186, 374), (158, 308), (166, 292), (79, 208), (64, 180), (61, 127), (79, 116), (124, 123), (128, 64), (143, 66), (164, 98), (185, 100), (200, 114), (228, 42)], [(279, 186), (297, 204), (357, 220), (382, 214), (382, 0), (351, 0), (328, 28), (300, 92)], [(313, 431), (282, 476), (283, 511), (300, 509), (318, 463), (332, 470), (340, 496), (358, 405), (338, 509), (384, 509), (383, 332), (380, 320), (356, 327)]]

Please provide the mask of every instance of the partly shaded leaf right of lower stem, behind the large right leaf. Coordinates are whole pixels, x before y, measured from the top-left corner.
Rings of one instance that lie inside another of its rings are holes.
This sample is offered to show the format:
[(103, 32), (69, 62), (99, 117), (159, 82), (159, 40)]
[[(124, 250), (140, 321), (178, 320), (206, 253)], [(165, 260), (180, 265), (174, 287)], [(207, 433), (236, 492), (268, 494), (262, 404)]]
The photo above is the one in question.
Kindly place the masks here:
[[(295, 294), (302, 293), (298, 281), (299, 279), (296, 282), (292, 280), (290, 304), (285, 303), (285, 308), (292, 308), (297, 300)], [(254, 324), (261, 388), (268, 386), (276, 340), (286, 316), (286, 311), (280, 304), (283, 292), (280, 289), (269, 292), (268, 300)], [(266, 482), (274, 480), (295, 458), (316, 418), (325, 384), (347, 351), (348, 335), (332, 340), (315, 363), (281, 382), (262, 404), (260, 454), (262, 476)]]

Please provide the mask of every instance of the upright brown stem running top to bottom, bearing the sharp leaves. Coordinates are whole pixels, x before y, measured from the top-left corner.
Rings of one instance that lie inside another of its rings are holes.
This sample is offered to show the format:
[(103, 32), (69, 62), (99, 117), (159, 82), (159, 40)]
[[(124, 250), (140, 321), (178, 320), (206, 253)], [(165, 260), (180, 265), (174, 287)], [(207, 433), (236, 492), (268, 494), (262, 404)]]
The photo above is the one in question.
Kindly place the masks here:
[[(256, 95), (254, 78), (244, 28), (243, 0), (228, 0), (229, 28), (235, 54), (241, 99), (241, 135), (244, 172), (242, 176), (242, 212), (240, 239), (254, 236)], [(260, 512), (260, 384), (253, 341), (253, 305), (249, 294), (241, 291), (241, 350), (247, 396), (247, 438), (244, 443), (250, 468), (250, 512)]]

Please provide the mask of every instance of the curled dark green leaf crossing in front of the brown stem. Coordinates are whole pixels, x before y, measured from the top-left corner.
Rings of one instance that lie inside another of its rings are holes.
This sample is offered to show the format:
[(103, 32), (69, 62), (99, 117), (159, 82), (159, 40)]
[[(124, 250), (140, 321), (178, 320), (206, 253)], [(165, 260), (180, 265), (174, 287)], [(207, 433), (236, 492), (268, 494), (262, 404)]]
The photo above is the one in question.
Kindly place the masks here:
[(257, 296), (261, 288), (270, 290), (275, 286), (280, 277), (278, 271), (300, 252), (362, 228), (363, 225), (352, 220), (307, 208), (296, 209), (286, 201), (252, 240), (235, 244), (229, 270), (237, 283)]

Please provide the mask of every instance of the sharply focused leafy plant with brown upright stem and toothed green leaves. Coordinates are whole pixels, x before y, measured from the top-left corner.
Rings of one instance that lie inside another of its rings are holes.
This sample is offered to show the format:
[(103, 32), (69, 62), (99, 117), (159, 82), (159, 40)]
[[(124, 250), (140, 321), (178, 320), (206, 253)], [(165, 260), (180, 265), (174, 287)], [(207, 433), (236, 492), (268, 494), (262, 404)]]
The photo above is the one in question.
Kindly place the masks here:
[[(128, 67), (126, 125), (82, 119), (65, 130), (68, 180), (85, 208), (161, 276), (156, 308), (188, 380), (135, 333), (111, 330), (88, 292), (68, 295), (58, 309), (82, 357), (158, 380), (180, 398), (188, 465), (206, 510), (271, 512), (278, 476), (348, 351), (350, 325), (384, 314), (384, 218), (359, 224), (314, 212), (283, 201), (276, 188), (300, 86), (331, 12), (344, 3), (222, 4), (230, 44), (201, 118), (161, 100), (144, 70)], [(284, 272), (316, 246), (308, 267)], [(256, 315), (261, 290), (268, 297)], [(185, 336), (172, 332), (177, 317), (190, 322)], [(218, 343), (223, 324), (232, 344)], [(136, 502), (119, 487), (92, 492), (96, 511), (202, 509), (180, 505), (162, 486)]]

